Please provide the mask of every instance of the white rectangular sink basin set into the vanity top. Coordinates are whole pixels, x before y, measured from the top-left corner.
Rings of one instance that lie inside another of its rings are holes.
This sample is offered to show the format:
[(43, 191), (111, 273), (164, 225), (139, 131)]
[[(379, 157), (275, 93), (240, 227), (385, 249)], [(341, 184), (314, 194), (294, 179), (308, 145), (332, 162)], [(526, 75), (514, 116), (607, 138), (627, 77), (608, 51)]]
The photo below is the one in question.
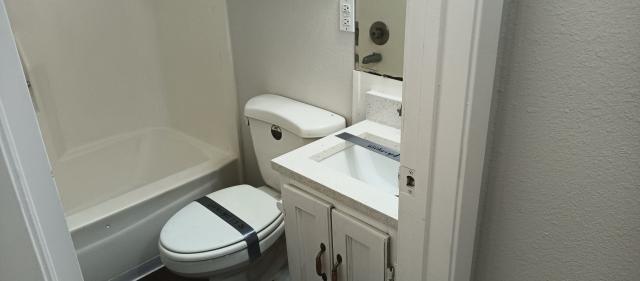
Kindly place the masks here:
[(334, 171), (380, 188), (383, 192), (398, 195), (400, 162), (394, 159), (357, 145), (349, 145), (319, 162)]

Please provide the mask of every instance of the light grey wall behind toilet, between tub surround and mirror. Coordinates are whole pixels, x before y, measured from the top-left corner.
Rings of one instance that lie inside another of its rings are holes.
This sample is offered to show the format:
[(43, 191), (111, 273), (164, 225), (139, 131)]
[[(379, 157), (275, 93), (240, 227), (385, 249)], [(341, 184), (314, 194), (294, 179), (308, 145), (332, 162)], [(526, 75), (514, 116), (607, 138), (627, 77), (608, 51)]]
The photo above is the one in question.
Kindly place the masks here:
[[(351, 116), (354, 34), (338, 30), (338, 0), (229, 1), (240, 114), (251, 97), (277, 93)], [(246, 180), (261, 184), (240, 121)]]

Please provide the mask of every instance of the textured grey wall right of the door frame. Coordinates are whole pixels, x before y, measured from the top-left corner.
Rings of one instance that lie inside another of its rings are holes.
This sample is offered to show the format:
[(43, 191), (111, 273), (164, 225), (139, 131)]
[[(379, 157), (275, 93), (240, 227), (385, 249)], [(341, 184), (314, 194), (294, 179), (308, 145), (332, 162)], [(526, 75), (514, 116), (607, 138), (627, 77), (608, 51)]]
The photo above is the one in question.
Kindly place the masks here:
[(640, 280), (640, 1), (507, 0), (477, 281)]

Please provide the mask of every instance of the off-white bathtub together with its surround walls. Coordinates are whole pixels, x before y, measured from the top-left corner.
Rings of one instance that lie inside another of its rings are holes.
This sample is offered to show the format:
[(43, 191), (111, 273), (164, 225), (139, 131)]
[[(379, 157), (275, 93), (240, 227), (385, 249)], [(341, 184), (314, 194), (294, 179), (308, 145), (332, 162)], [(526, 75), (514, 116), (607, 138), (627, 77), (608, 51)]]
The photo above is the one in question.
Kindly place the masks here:
[(226, 1), (4, 2), (85, 279), (136, 273), (173, 212), (239, 181)]

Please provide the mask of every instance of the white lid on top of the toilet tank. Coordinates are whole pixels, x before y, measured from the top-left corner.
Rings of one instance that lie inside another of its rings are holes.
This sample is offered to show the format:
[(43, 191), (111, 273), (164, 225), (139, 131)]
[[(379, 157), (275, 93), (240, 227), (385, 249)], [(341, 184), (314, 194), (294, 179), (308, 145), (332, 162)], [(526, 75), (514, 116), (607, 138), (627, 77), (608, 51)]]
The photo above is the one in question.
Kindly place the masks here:
[(303, 138), (320, 138), (345, 128), (344, 117), (333, 112), (278, 95), (250, 99), (244, 116), (278, 125)]

